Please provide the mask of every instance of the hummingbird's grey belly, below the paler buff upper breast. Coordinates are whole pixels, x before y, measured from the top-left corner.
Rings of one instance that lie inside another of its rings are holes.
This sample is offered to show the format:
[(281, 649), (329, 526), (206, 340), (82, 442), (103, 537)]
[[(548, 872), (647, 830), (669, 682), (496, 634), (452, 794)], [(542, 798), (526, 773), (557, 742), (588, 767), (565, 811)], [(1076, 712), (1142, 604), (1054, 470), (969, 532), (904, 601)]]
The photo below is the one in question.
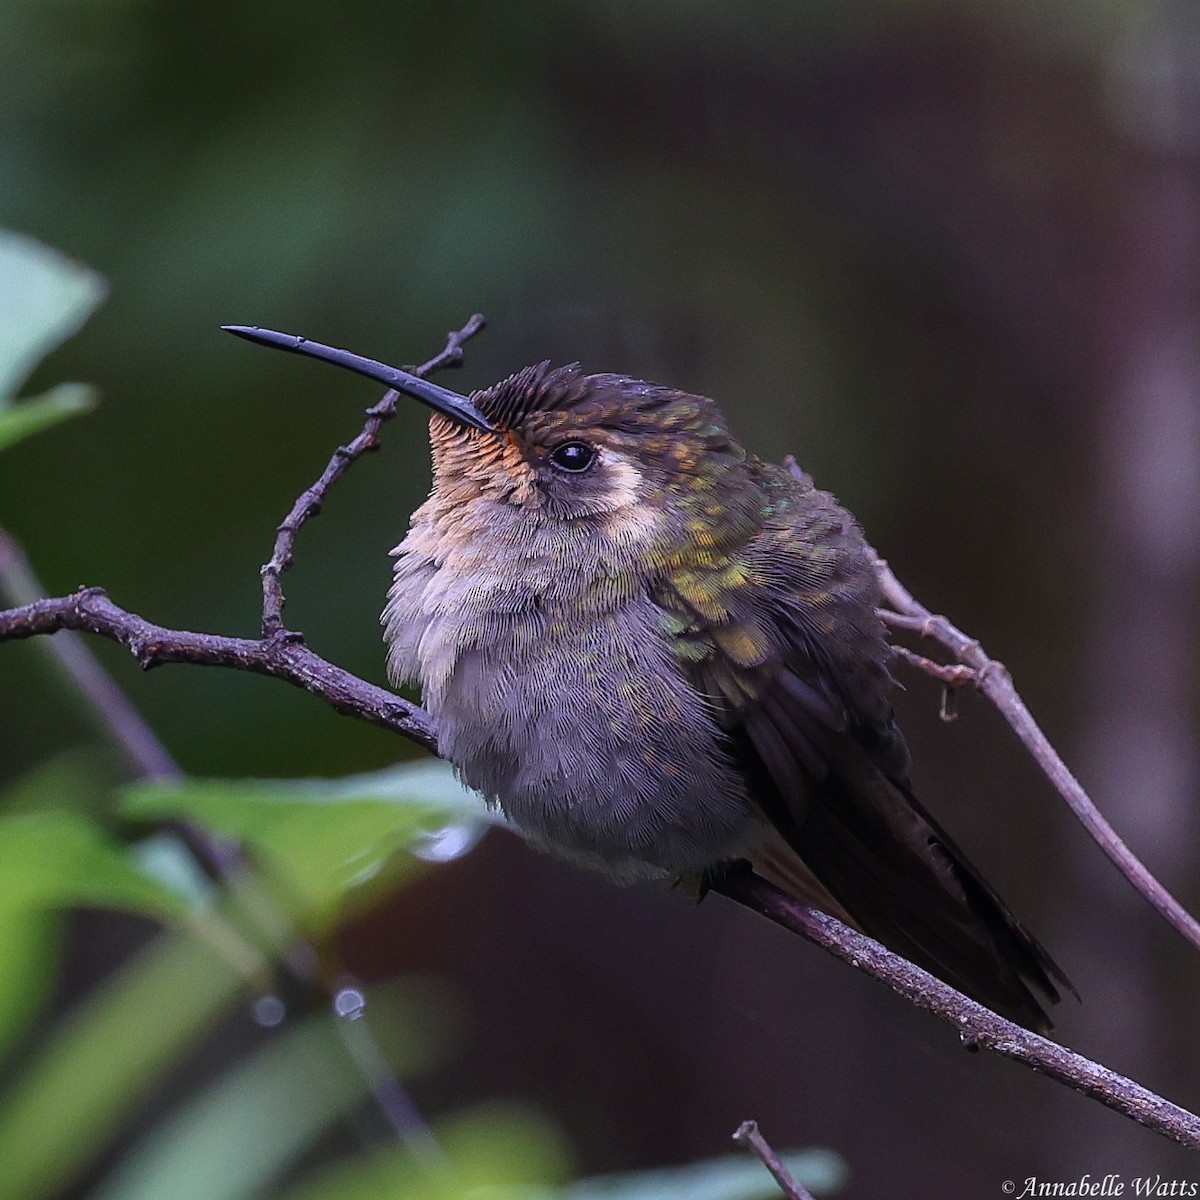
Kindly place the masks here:
[(701, 870), (760, 841), (649, 601), (565, 623), (509, 616), (486, 646), (479, 628), (443, 631), (458, 653), (426, 703), (443, 755), (530, 841), (625, 880)]

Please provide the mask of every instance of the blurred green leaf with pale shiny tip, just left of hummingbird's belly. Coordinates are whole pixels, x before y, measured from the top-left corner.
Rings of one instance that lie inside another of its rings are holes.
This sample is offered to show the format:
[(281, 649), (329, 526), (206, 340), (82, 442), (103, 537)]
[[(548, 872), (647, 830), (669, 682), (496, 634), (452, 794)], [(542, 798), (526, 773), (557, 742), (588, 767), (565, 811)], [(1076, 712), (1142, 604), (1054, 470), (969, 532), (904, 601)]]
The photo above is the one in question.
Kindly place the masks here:
[(184, 780), (138, 784), (125, 792), (133, 818), (186, 817), (247, 846), (280, 884), (298, 922), (323, 926), (348, 893), (385, 871), (410, 870), (401, 851), (478, 800), (446, 770), (392, 769), (344, 780)]

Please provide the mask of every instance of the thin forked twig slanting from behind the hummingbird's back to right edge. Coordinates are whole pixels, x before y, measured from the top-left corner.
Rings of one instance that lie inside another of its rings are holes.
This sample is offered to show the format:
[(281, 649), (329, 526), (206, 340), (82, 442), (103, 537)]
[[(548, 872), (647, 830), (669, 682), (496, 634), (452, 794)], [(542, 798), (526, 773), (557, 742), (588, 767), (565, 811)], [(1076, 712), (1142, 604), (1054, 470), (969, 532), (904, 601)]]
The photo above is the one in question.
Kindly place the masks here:
[[(1108, 854), (1116, 869), (1141, 893), (1164, 920), (1182, 934), (1196, 949), (1200, 949), (1200, 923), (1158, 882), (1104, 818), (1092, 798), (1084, 791), (1082, 785), (1062, 761), (1058, 751), (1042, 732), (1033, 714), (1013, 685), (1013, 677), (1008, 673), (1008, 668), (1002, 662), (989, 658), (973, 637), (967, 637), (946, 617), (935, 616), (916, 600), (883, 559), (876, 558), (875, 566), (883, 588), (883, 596), (894, 610), (894, 612), (881, 611), (880, 616), (884, 622), (894, 629), (910, 630), (937, 642), (938, 646), (954, 655), (959, 665), (946, 666), (934, 662), (924, 655), (896, 647), (900, 656), (918, 670), (952, 686), (959, 686), (962, 683), (974, 684), (1008, 721), (1055, 790), (1067, 802), (1070, 811), (1100, 850)], [(959, 671), (968, 673), (958, 676), (955, 672)]]

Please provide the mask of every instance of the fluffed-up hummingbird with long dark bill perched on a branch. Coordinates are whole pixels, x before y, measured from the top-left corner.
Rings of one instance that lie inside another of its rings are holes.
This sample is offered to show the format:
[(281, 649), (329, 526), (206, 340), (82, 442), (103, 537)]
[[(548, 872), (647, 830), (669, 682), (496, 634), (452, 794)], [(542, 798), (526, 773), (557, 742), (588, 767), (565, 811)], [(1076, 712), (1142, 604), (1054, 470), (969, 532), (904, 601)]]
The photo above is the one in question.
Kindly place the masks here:
[(703, 396), (548, 362), (462, 396), (257, 326), (432, 409), (388, 672), (534, 846), (702, 895), (749, 863), (1030, 1028), (1069, 980), (913, 793), (880, 584), (834, 497)]

